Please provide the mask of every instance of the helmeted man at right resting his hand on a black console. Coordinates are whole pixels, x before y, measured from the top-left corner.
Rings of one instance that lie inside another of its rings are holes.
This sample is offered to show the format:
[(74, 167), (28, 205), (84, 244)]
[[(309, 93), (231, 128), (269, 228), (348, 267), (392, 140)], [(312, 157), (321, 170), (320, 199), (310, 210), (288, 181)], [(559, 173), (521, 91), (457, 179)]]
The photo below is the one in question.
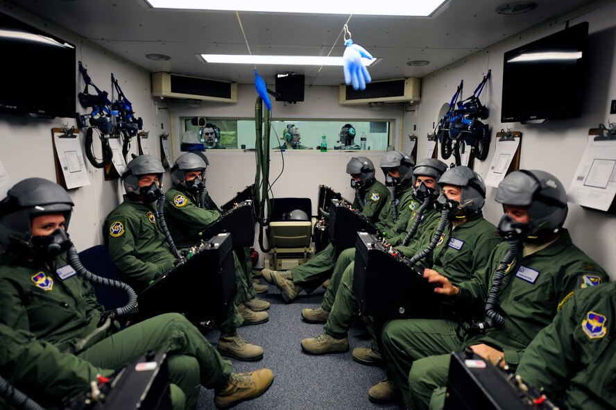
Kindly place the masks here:
[[(554, 176), (515, 171), (499, 184), (495, 199), (504, 207), (498, 231), (506, 241), (465, 280), (451, 277), (446, 265), (425, 270), (427, 280), (437, 285), (435, 292), (452, 301), (451, 315), (438, 320), (395, 319), (384, 325), (387, 379), (370, 388), (371, 399), (391, 401), (399, 392), (405, 407), (425, 409), (434, 400), (438, 408), (450, 352), (465, 348), (515, 370), (529, 343), (575, 289), (608, 280), (563, 228), (567, 194)], [(472, 207), (464, 195), (456, 202), (460, 210)], [(467, 245), (458, 239), (459, 232), (456, 227), (447, 248), (463, 250)], [(482, 308), (485, 314), (477, 321)]]

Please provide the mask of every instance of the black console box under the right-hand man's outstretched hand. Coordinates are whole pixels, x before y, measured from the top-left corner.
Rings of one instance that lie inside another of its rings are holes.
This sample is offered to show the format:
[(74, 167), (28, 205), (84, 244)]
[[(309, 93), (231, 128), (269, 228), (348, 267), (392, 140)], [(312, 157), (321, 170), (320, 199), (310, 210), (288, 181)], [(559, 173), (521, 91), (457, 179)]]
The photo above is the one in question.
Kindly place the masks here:
[(361, 314), (391, 318), (439, 318), (443, 300), (423, 268), (367, 232), (357, 232), (353, 290)]

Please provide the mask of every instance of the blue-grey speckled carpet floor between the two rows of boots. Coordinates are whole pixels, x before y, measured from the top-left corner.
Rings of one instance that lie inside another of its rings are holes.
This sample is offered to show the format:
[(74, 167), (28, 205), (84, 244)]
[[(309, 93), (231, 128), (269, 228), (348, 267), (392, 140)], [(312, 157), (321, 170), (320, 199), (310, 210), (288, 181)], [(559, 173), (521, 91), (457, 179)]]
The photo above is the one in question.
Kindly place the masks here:
[[(302, 292), (287, 305), (275, 286), (269, 285), (269, 288), (269, 293), (258, 295), (271, 302), (267, 311), (269, 321), (238, 330), (248, 342), (262, 346), (264, 358), (256, 362), (232, 360), (232, 363), (237, 373), (271, 368), (274, 382), (264, 395), (241, 402), (234, 409), (398, 409), (396, 404), (379, 405), (368, 401), (368, 389), (384, 379), (384, 370), (352, 361), (353, 348), (370, 347), (368, 333), (359, 319), (354, 321), (349, 332), (348, 352), (307, 355), (302, 352), (301, 340), (323, 333), (323, 325), (302, 321), (300, 312), (306, 307), (319, 307), (325, 290), (319, 288), (310, 296)], [(219, 332), (212, 330), (206, 336), (216, 344)], [(214, 391), (201, 388), (197, 409), (214, 408)]]

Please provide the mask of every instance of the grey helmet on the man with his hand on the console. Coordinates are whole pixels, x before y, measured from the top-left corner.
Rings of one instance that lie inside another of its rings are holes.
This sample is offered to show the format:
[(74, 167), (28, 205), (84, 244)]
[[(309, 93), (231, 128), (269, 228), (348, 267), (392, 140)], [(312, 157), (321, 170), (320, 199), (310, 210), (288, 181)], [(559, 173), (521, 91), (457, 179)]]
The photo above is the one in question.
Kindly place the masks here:
[(526, 207), (529, 237), (548, 237), (567, 219), (567, 191), (551, 173), (539, 170), (514, 171), (502, 180), (495, 200), (503, 205)]

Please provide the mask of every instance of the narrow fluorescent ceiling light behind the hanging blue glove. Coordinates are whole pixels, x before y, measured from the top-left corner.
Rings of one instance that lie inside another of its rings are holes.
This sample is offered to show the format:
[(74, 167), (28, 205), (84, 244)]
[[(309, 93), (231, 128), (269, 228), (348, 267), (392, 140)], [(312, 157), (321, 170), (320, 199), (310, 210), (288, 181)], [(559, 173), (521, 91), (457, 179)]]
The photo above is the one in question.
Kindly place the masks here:
[[(280, 64), (280, 65), (344, 65), (342, 57), (325, 57), (312, 55), (237, 55), (237, 54), (201, 54), (205, 62), (221, 62), (230, 64)], [(361, 58), (366, 67), (370, 67), (378, 58), (369, 60)]]

